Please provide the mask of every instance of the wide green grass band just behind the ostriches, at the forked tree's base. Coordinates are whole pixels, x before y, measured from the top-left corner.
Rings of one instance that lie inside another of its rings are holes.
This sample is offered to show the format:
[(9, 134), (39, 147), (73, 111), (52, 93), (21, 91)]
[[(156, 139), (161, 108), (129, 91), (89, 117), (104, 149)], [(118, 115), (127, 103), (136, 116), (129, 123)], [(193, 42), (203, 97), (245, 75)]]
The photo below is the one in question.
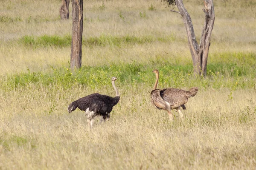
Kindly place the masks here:
[[(225, 55), (225, 54), (224, 54)], [(255, 87), (255, 66), (256, 57), (253, 54), (234, 54), (232, 63), (216, 62), (208, 65), (207, 78), (195, 78), (193, 76), (192, 65), (173, 65), (168, 61), (154, 61), (149, 65), (137, 64), (136, 62), (112, 63), (99, 67), (84, 66), (79, 70), (71, 71), (70, 68), (52, 68), (49, 73), (30, 72), (7, 76), (2, 79), (2, 88), (7, 91), (16, 88), (26, 87), (32, 84), (44, 86), (62, 86), (65, 89), (74, 85), (85, 85), (89, 88), (102, 87), (109, 84), (109, 78), (116, 76), (122, 86), (145, 83), (152, 86), (154, 75), (151, 74), (153, 68), (160, 70), (159, 85), (161, 87), (192, 87), (199, 86), (201, 89), (221, 89), (221, 88), (256, 88)], [(223, 57), (223, 55), (221, 55)], [(241, 56), (251, 60), (251, 63), (236, 62)], [(162, 63), (161, 63), (162, 62)], [(241, 64), (239, 64), (241, 63)], [(250, 65), (251, 64), (251, 65)]]

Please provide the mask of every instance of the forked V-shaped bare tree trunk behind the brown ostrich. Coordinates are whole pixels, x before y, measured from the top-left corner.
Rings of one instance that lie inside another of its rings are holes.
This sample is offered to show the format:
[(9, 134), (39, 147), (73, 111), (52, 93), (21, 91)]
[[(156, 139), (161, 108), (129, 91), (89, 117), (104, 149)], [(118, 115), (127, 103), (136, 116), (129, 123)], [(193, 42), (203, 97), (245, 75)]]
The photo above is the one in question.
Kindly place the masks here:
[(177, 12), (181, 15), (183, 23), (186, 28), (186, 33), (188, 36), (189, 49), (192, 55), (194, 73), (199, 76), (206, 76), (207, 71), (207, 59), (210, 47), (210, 37), (212, 34), (213, 24), (215, 20), (213, 0), (204, 0), (204, 28), (201, 35), (200, 44), (195, 39), (195, 32), (192, 24), (191, 17), (188, 11), (183, 5), (183, 0), (175, 0), (177, 8), (179, 11), (171, 10)]

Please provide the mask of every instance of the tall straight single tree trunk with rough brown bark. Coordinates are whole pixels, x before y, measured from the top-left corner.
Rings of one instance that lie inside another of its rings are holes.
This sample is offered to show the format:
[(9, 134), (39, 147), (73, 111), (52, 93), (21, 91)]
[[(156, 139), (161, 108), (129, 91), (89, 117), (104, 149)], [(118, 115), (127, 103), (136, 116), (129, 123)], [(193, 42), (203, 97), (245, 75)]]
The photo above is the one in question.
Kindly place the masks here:
[(82, 60), (83, 0), (72, 0), (72, 42), (70, 68), (80, 68)]

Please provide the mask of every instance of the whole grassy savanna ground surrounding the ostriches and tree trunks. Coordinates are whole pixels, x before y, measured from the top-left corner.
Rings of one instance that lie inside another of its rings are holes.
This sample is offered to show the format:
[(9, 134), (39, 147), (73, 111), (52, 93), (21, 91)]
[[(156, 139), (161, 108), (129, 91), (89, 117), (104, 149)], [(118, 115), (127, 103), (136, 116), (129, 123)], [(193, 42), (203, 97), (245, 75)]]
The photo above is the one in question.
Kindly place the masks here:
[[(254, 169), (256, 3), (215, 1), (206, 78), (192, 73), (179, 14), (160, 0), (84, 0), (82, 68), (70, 71), (70, 20), (61, 0), (2, 0), (0, 169)], [(197, 40), (201, 0), (184, 0)], [(159, 88), (198, 86), (182, 121), (150, 102)], [(121, 99), (87, 130), (70, 102), (98, 92)]]

